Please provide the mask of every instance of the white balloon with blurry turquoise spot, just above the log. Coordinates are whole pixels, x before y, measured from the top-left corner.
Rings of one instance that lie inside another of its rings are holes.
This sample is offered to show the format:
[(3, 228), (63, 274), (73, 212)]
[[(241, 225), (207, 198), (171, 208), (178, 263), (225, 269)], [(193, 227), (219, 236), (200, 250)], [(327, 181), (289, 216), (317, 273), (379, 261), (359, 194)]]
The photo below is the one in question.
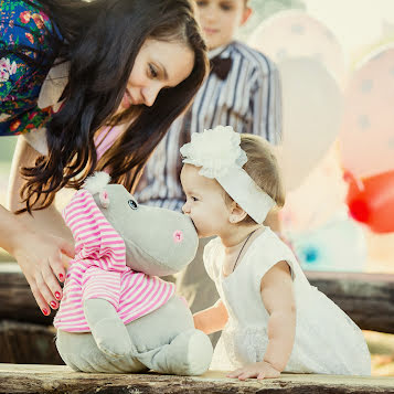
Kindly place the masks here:
[(345, 214), (289, 241), (306, 270), (362, 271), (368, 262), (364, 233)]

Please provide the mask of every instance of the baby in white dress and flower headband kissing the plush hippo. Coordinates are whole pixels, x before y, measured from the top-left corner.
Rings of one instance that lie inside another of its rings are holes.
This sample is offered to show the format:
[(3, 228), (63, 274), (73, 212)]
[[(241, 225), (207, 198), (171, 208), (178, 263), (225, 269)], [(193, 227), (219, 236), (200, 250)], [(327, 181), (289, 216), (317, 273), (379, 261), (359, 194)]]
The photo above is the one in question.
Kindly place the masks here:
[(200, 237), (217, 235), (204, 265), (220, 300), (194, 315), (195, 328), (222, 331), (211, 369), (230, 377), (283, 371), (370, 375), (361, 330), (310, 286), (289, 247), (263, 225), (284, 190), (268, 142), (216, 127), (181, 148), (183, 212)]

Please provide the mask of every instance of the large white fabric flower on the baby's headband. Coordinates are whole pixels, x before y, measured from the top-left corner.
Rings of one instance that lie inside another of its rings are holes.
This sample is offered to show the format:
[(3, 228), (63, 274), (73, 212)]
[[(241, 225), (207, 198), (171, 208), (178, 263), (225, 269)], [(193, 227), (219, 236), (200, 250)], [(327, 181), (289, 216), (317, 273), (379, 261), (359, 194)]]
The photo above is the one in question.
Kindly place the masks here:
[(239, 143), (239, 134), (231, 126), (216, 126), (203, 132), (193, 132), (191, 142), (181, 148), (181, 155), (184, 163), (201, 167), (200, 175), (219, 178), (246, 163), (247, 156)]

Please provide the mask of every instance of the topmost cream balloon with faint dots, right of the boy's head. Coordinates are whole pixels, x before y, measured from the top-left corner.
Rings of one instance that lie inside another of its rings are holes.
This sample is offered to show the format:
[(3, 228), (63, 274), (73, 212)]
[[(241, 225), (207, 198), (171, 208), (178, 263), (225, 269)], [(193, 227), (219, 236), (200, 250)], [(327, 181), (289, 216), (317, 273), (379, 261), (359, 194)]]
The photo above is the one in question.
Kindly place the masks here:
[(339, 86), (347, 79), (343, 51), (332, 32), (301, 10), (285, 10), (263, 21), (248, 44), (276, 63), (310, 57), (324, 65)]

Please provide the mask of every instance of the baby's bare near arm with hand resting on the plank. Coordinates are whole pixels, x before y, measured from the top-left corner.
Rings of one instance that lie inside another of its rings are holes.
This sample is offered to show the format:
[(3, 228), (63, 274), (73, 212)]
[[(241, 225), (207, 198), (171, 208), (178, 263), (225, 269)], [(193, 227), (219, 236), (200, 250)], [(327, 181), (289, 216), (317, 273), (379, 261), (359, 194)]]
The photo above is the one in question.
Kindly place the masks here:
[(228, 377), (277, 377), (290, 358), (296, 334), (296, 302), (290, 268), (286, 262), (277, 263), (263, 277), (260, 292), (269, 313), (266, 353), (262, 362), (245, 365)]

